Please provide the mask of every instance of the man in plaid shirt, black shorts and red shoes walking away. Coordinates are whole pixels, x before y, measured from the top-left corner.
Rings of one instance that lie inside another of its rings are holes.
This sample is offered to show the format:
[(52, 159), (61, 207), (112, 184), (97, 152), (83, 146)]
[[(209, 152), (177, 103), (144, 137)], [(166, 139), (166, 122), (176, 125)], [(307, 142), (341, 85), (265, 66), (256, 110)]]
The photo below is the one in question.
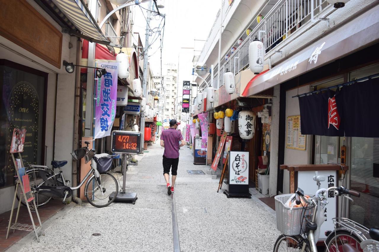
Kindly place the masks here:
[[(182, 133), (177, 131), (178, 123), (175, 119), (170, 121), (170, 128), (161, 133), (161, 146), (163, 153), (163, 175), (167, 184), (167, 194), (174, 192), (175, 179), (179, 163), (179, 147), (184, 146)], [(179, 145), (180, 142), (180, 145)], [(172, 185), (170, 186), (170, 168)]]

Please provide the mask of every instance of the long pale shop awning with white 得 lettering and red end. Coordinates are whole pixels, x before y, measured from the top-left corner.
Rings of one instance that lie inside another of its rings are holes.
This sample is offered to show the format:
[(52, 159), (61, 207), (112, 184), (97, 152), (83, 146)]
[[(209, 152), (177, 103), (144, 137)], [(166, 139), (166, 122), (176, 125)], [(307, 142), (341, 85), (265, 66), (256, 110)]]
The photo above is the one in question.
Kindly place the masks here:
[(379, 40), (377, 31), (379, 6), (332, 31), (268, 72), (257, 75), (249, 82), (242, 95), (255, 95), (374, 44)]

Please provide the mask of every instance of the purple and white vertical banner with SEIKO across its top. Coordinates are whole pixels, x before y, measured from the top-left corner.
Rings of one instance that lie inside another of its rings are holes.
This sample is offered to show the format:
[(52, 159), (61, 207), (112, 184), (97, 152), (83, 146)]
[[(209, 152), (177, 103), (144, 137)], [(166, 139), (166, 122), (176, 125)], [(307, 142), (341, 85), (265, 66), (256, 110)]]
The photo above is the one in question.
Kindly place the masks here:
[(96, 62), (99, 68), (105, 68), (106, 74), (97, 79), (95, 100), (95, 138), (111, 134), (116, 115), (118, 62)]

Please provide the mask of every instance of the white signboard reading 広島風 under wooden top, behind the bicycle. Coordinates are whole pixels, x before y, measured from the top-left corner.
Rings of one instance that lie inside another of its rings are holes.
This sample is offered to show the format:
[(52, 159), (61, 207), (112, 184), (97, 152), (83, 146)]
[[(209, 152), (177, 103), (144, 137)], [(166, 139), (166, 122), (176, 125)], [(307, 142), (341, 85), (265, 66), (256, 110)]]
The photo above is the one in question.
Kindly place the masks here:
[[(319, 176), (325, 176), (325, 180), (321, 181), (321, 188), (336, 187), (338, 186), (337, 171), (318, 171)], [(313, 180), (315, 171), (298, 171), (298, 187), (304, 190), (305, 194), (315, 194), (318, 190), (316, 182)], [(320, 240), (326, 240), (325, 231), (334, 230), (332, 218), (337, 217), (337, 197), (330, 192), (327, 195), (326, 212), (324, 216), (326, 221), (321, 226)]]

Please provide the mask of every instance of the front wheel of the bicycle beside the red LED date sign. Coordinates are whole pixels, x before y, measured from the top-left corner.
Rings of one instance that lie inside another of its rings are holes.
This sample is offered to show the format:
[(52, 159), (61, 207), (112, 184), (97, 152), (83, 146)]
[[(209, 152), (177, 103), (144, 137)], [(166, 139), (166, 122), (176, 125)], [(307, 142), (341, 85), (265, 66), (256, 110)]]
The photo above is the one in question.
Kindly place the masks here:
[[(100, 182), (100, 184), (99, 184)], [(100, 189), (101, 188), (103, 190)], [(109, 199), (111, 193), (115, 192), (112, 199)], [(106, 207), (116, 198), (118, 192), (118, 183), (115, 177), (110, 173), (100, 173), (100, 177), (92, 176), (84, 191), (88, 202), (94, 207)]]

